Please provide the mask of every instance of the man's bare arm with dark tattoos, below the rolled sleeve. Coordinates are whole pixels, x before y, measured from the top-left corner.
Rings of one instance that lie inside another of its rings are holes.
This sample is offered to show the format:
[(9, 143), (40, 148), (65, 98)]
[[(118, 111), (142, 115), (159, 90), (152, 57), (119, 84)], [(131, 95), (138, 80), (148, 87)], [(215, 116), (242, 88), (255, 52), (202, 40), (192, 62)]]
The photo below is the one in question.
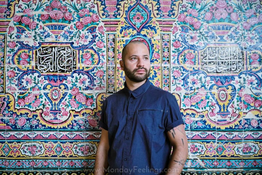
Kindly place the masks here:
[(167, 175), (180, 174), (188, 156), (188, 143), (184, 125), (178, 125), (167, 132), (168, 139), (173, 146), (173, 151), (168, 164)]

